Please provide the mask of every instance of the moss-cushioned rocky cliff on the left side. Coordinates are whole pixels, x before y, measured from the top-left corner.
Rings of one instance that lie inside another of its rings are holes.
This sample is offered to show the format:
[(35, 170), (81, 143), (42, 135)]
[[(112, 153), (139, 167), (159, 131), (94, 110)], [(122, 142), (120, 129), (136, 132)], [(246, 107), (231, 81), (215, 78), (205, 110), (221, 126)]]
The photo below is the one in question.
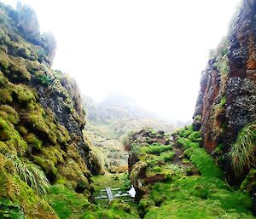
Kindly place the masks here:
[(0, 3), (0, 217), (58, 218), (61, 204), (42, 199), (50, 184), (90, 199), (96, 163), (82, 134), (79, 89), (49, 67), (51, 45), (29, 15), (29, 7)]

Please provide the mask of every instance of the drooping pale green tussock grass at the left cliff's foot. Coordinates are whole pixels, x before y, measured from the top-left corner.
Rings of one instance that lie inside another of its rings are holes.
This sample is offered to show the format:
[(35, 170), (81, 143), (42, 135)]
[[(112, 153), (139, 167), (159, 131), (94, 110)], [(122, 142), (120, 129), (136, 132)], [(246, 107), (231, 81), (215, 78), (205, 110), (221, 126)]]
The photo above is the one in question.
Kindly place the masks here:
[(36, 193), (44, 195), (49, 191), (49, 181), (38, 165), (26, 163), (11, 153), (6, 153), (4, 156), (14, 162), (15, 171), (20, 179), (26, 182)]

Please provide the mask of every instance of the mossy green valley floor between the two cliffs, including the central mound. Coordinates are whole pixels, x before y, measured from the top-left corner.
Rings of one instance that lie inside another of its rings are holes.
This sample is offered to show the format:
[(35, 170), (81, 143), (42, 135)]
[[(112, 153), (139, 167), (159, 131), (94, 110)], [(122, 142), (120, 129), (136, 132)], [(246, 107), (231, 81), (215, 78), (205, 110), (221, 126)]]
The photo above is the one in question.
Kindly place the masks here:
[[(65, 182), (52, 186), (47, 201), (61, 219), (254, 218), (249, 193), (224, 181), (215, 160), (200, 147), (199, 132), (184, 128), (173, 135), (174, 141), (154, 130), (142, 130), (135, 135), (138, 138), (131, 141), (136, 144), (130, 153), (137, 154), (138, 161), (133, 164), (130, 176), (108, 172), (92, 176), (94, 198), (75, 193)], [(115, 197), (109, 204), (107, 187), (112, 188), (113, 195), (123, 194), (131, 188), (131, 183), (137, 192), (143, 191), (143, 195), (137, 196), (138, 203), (125, 196)], [(102, 196), (106, 199), (97, 199)]]

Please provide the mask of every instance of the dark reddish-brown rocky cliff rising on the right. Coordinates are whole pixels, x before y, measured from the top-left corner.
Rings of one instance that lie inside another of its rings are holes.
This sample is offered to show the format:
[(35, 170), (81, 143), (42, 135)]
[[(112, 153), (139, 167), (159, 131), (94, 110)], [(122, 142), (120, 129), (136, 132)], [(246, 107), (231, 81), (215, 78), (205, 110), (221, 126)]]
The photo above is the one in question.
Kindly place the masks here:
[[(216, 149), (218, 149), (218, 153), (221, 151), (221, 155), (227, 155), (227, 153), (235, 155), (235, 149), (232, 151), (231, 148), (238, 147), (239, 134), (245, 135), (248, 130), (255, 130), (255, 14), (256, 1), (244, 0), (241, 2), (230, 23), (228, 36), (213, 52), (206, 70), (202, 72), (194, 126), (196, 130), (202, 130), (203, 145), (212, 153), (216, 153)], [(241, 135), (240, 139), (242, 138)], [(244, 141), (247, 140), (244, 139)], [(255, 141), (253, 147), (255, 147)], [(240, 155), (242, 156), (242, 146), (240, 148)], [(254, 156), (253, 150), (252, 148), (253, 154), (251, 155)], [(225, 168), (229, 174), (230, 166), (228, 163), (232, 158), (230, 156), (224, 157), (224, 160), (228, 161), (224, 162), (224, 165), (226, 165)], [(249, 169), (255, 167), (254, 164), (253, 158), (248, 158), (245, 163), (241, 159), (237, 159), (236, 162), (233, 162), (236, 176), (240, 179), (243, 178)], [(228, 178), (230, 182), (234, 182), (232, 181), (232, 174)]]

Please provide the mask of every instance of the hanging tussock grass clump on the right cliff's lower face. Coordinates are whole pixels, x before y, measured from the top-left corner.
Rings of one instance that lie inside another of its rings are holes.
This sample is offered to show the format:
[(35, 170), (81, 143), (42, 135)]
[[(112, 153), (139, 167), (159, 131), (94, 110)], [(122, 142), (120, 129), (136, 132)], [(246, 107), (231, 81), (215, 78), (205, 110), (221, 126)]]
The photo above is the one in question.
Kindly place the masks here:
[(256, 124), (245, 126), (237, 135), (236, 143), (230, 150), (230, 158), (236, 176), (256, 165)]

